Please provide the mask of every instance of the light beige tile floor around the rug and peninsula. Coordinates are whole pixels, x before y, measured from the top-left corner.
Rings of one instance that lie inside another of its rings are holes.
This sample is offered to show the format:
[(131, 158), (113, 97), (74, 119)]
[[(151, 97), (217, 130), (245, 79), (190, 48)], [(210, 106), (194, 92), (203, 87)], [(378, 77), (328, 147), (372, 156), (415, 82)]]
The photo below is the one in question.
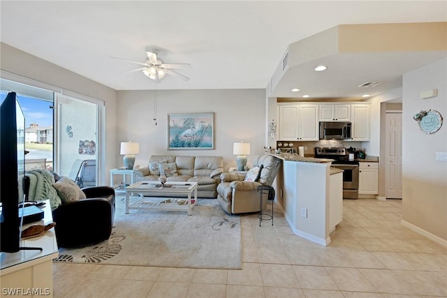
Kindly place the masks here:
[(242, 216), (242, 270), (54, 263), (54, 297), (447, 297), (447, 248), (401, 225), (401, 200), (343, 213), (327, 247), (276, 206), (273, 226)]

